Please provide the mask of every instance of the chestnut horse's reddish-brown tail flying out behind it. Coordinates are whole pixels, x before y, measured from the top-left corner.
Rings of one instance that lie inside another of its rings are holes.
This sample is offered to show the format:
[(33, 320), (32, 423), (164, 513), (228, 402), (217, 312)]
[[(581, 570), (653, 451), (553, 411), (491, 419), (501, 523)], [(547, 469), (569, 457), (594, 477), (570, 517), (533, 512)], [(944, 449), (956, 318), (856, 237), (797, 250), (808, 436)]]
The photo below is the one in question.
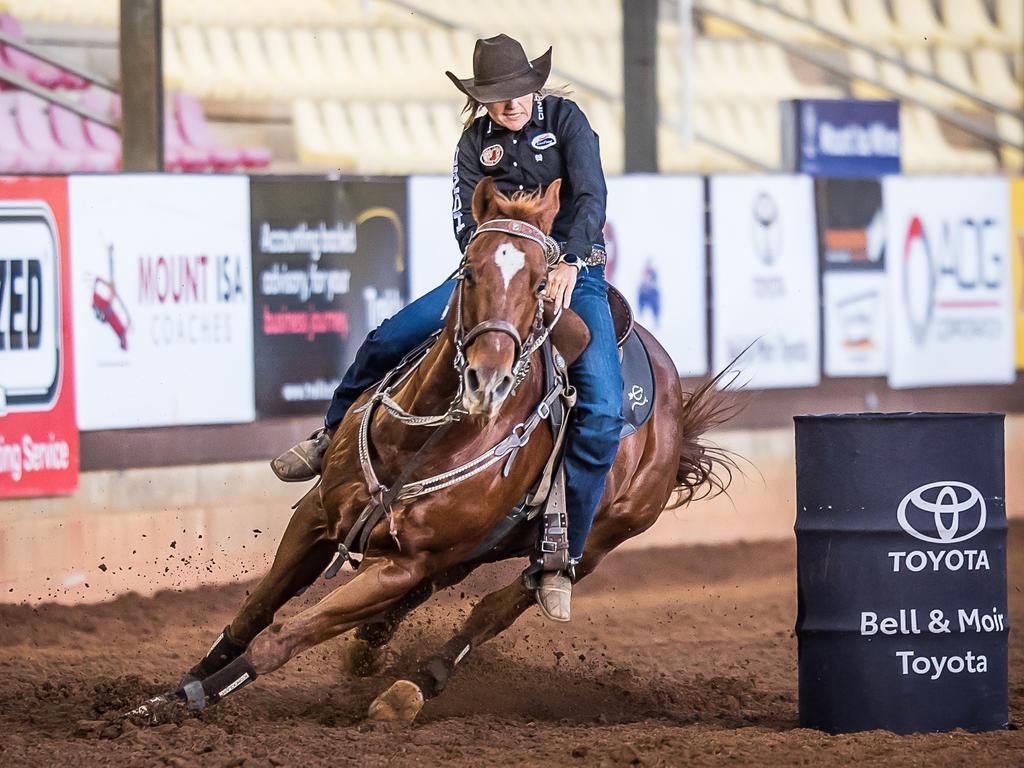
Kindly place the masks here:
[(706, 432), (721, 426), (742, 410), (742, 403), (735, 399), (728, 386), (718, 388), (731, 369), (731, 365), (727, 366), (693, 392), (683, 393), (680, 425), (683, 442), (669, 509), (724, 494), (732, 482), (732, 472), (736, 469), (734, 455), (702, 439)]

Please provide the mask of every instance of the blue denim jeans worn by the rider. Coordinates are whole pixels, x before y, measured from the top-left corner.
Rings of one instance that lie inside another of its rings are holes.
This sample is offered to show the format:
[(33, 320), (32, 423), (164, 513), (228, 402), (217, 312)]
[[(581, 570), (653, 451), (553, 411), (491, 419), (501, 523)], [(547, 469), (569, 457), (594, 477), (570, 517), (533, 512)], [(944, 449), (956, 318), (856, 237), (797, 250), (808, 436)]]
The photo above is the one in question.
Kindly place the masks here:
[[(421, 296), (367, 336), (334, 392), (326, 424), (336, 427), (362, 392), (384, 378), (411, 350), (444, 325), (456, 281)], [(577, 406), (565, 442), (565, 502), (569, 518), (569, 557), (583, 557), (604, 481), (618, 451), (623, 427), (623, 374), (608, 308), (604, 267), (580, 272), (570, 306), (590, 329), (591, 341), (569, 368)]]

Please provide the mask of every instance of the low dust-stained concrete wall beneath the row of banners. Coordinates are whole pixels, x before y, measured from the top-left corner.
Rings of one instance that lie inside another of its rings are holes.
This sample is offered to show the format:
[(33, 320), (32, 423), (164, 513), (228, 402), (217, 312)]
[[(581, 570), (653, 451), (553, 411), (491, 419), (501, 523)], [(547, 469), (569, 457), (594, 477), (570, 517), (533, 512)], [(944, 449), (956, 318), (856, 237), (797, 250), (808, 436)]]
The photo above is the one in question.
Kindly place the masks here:
[[(746, 460), (729, 496), (667, 512), (624, 546), (793, 536), (792, 429), (715, 437)], [(1011, 516), (1024, 517), (1022, 467), (1024, 417), (1017, 416), (1007, 420)], [(249, 462), (85, 472), (74, 497), (0, 502), (0, 601), (96, 602), (252, 578), (269, 564), (304, 488)]]

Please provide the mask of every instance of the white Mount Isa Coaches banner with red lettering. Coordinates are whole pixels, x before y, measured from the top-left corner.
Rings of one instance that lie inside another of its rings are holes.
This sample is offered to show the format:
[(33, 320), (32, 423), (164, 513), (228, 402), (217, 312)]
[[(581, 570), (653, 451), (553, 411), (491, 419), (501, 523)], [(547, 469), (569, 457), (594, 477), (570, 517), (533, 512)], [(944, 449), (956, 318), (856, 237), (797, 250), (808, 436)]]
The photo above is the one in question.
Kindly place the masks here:
[(69, 181), (83, 430), (252, 421), (249, 179)]

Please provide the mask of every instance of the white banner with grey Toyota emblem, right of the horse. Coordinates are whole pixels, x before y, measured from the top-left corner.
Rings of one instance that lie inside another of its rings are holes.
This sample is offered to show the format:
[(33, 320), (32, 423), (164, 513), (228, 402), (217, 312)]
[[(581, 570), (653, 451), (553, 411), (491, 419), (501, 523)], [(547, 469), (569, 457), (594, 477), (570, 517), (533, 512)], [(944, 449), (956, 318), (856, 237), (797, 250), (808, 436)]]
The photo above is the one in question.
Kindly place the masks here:
[(715, 371), (752, 389), (820, 380), (818, 255), (809, 176), (713, 176)]

